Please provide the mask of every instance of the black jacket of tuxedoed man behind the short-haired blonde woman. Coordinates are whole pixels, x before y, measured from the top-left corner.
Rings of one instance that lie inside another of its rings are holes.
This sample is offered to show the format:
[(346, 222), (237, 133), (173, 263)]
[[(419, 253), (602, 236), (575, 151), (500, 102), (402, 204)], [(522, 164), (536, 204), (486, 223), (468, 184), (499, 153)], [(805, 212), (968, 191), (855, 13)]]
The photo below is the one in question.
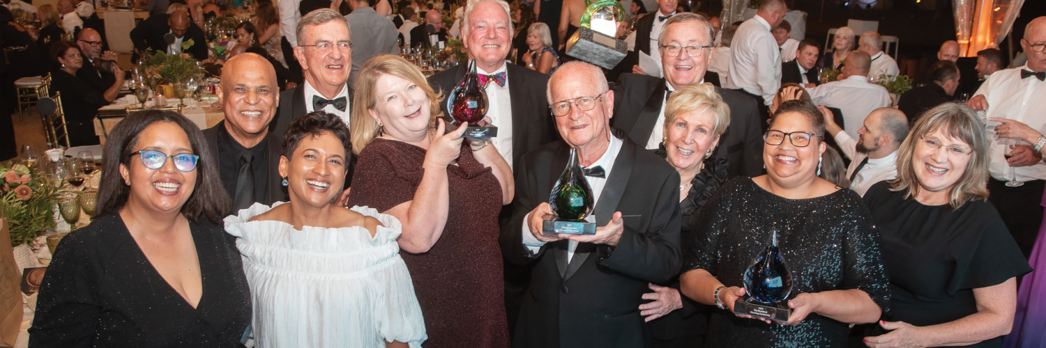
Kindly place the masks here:
[[(646, 18), (650, 16), (644, 16)], [(705, 75), (708, 80), (708, 75)], [(621, 74), (614, 89), (614, 118), (611, 124), (628, 132), (639, 144), (646, 144), (654, 131), (665, 92), (664, 78)], [(726, 157), (730, 178), (757, 177), (763, 169), (763, 136), (755, 100), (737, 91), (715, 88), (730, 107), (730, 125), (715, 146), (717, 158)]]

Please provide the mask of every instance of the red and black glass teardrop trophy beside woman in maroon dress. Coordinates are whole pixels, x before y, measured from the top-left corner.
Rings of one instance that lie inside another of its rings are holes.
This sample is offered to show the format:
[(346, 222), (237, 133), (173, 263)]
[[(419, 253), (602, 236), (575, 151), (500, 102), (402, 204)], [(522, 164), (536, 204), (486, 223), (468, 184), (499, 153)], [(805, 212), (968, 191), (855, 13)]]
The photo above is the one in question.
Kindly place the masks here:
[[(469, 64), (469, 72), (454, 88), (454, 91), (447, 97), (447, 110), (454, 118), (454, 125), (467, 127), (465, 138), (493, 138), (498, 136), (496, 126), (479, 126), (476, 122), (486, 116), (486, 92), (479, 85), (479, 76), (476, 74), (476, 61)], [(450, 130), (448, 130), (450, 132)]]

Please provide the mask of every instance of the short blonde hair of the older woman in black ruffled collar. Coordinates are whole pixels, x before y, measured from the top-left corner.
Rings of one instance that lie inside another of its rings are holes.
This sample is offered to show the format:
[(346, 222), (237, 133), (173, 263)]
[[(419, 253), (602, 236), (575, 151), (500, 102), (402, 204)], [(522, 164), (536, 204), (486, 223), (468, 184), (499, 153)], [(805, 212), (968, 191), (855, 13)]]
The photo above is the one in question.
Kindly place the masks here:
[(730, 125), (730, 107), (715, 92), (712, 84), (690, 84), (672, 92), (664, 108), (664, 135), (668, 136), (668, 125), (684, 113), (712, 114), (712, 135), (719, 137)]

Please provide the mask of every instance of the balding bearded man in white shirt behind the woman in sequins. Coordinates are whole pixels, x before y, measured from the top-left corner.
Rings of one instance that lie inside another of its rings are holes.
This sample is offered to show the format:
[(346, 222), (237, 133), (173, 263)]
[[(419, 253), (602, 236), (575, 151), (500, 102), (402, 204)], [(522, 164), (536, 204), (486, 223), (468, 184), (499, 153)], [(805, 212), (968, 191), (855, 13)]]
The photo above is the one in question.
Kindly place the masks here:
[(839, 148), (851, 160), (846, 168), (851, 190), (864, 195), (871, 185), (897, 177), (897, 148), (908, 136), (908, 118), (904, 113), (893, 108), (876, 109), (857, 131), (860, 139), (854, 140), (836, 124), (827, 108), (818, 109), (824, 115), (824, 131), (835, 137)]

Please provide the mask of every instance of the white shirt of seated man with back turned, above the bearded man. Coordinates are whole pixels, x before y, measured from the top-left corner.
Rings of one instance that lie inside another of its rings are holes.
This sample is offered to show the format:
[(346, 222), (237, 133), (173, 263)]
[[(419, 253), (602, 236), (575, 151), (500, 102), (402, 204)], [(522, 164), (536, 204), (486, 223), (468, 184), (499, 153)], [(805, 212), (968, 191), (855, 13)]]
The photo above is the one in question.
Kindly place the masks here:
[(810, 90), (814, 103), (831, 108), (839, 108), (843, 112), (843, 130), (851, 138), (860, 137), (857, 130), (864, 126), (864, 118), (879, 108), (891, 105), (890, 93), (885, 88), (869, 84), (868, 77), (854, 75), (841, 80), (834, 80), (814, 87)]

